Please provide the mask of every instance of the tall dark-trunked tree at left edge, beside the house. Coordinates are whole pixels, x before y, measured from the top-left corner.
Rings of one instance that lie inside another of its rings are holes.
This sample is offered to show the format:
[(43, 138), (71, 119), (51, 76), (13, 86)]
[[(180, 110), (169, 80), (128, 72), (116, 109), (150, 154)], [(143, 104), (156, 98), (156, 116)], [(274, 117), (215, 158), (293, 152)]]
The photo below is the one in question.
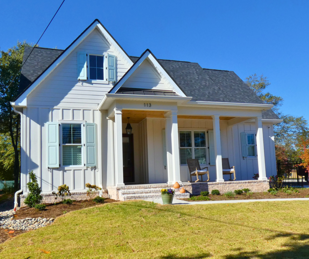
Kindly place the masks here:
[[(6, 52), (0, 52), (0, 132), (11, 138), (11, 144), (14, 149), (13, 172), (15, 188), (18, 186), (19, 179), (20, 116), (14, 113), (10, 101), (13, 101), (18, 95), (20, 69), (25, 46), (31, 45), (25, 41), (18, 41), (16, 46), (8, 49)], [(14, 78), (15, 74), (17, 76)]]

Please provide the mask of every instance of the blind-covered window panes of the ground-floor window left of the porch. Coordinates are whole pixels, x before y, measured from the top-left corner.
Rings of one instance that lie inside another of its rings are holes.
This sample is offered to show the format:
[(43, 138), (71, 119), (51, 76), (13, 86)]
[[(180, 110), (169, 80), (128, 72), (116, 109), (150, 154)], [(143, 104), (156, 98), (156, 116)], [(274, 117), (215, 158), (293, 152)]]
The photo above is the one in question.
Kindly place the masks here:
[(62, 165), (82, 165), (82, 124), (61, 124)]

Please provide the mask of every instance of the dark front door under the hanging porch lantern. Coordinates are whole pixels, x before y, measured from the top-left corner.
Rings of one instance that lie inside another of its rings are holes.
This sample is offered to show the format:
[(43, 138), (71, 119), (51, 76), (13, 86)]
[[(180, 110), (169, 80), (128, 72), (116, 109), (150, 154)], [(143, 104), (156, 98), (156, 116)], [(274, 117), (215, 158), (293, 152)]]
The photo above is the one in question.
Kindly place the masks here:
[(133, 134), (122, 134), (123, 182), (134, 182)]

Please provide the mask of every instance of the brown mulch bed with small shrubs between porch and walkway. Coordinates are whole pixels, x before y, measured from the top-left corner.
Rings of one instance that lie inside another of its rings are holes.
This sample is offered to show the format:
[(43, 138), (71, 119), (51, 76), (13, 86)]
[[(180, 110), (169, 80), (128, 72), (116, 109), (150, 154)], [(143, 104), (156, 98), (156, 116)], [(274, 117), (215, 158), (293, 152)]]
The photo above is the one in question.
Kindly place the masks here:
[[(256, 199), (278, 199), (278, 198), (309, 198), (309, 189), (298, 189), (299, 193), (287, 194), (283, 191), (278, 191), (277, 194), (273, 195), (268, 192), (264, 193), (243, 193), (240, 195), (235, 195), (234, 198), (228, 198), (224, 194), (220, 195), (211, 195), (209, 194), (210, 201), (228, 201), (228, 200), (256, 200)], [(200, 195), (197, 195), (199, 197)], [(181, 199), (188, 202), (201, 202), (199, 200), (190, 200), (190, 198)]]

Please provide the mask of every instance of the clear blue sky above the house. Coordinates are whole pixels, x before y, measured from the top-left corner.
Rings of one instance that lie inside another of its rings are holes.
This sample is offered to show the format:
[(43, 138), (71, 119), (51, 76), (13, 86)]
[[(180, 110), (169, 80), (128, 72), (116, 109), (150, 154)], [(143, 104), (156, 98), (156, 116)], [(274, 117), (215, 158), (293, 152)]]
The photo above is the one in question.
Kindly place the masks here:
[[(0, 48), (36, 43), (62, 0), (1, 1)], [(309, 1), (66, 0), (39, 42), (65, 49), (99, 19), (129, 55), (264, 74), (281, 111), (309, 121)]]

